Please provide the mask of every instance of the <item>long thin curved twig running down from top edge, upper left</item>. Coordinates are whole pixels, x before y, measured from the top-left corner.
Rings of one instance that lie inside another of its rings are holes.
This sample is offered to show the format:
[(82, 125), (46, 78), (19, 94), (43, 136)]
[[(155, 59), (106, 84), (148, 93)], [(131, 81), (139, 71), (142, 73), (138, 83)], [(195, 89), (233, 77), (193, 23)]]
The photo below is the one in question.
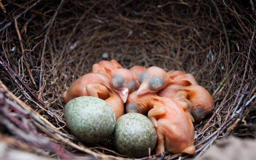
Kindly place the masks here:
[(59, 12), (59, 9), (61, 7), (61, 5), (64, 3), (65, 0), (61, 0), (58, 8), (56, 9), (56, 11), (54, 12), (51, 20), (50, 20), (50, 24), (49, 24), (49, 27), (48, 27), (48, 30), (45, 34), (45, 37), (44, 37), (44, 46), (43, 46), (43, 50), (42, 50), (42, 57), (41, 57), (41, 65), (40, 65), (40, 78), (39, 78), (39, 91), (41, 90), (41, 87), (42, 87), (42, 73), (44, 71), (44, 54), (45, 54), (45, 47), (46, 47), (46, 42), (47, 42), (47, 38), (48, 38), (48, 34), (50, 32), (50, 29), (52, 28), (52, 24), (53, 24), (53, 21), (55, 20), (58, 12)]

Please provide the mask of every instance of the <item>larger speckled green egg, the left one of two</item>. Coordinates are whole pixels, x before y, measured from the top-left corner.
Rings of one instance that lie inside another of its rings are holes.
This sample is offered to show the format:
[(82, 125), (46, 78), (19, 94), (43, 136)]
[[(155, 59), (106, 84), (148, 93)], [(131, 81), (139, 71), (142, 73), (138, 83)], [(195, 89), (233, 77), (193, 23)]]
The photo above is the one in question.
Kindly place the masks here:
[(81, 96), (69, 101), (64, 109), (71, 132), (84, 142), (97, 143), (109, 137), (116, 118), (112, 108), (102, 99)]

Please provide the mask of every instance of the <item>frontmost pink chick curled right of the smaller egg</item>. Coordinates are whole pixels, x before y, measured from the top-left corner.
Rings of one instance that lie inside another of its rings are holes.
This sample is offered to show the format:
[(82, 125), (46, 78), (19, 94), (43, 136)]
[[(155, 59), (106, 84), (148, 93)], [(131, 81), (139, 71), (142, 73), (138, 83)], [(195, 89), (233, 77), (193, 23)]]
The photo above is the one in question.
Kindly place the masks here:
[(169, 151), (172, 153), (195, 152), (194, 126), (187, 105), (166, 97), (159, 97), (155, 93), (142, 96), (136, 91), (129, 94), (126, 111), (145, 114), (151, 119), (156, 128), (158, 142), (157, 153)]

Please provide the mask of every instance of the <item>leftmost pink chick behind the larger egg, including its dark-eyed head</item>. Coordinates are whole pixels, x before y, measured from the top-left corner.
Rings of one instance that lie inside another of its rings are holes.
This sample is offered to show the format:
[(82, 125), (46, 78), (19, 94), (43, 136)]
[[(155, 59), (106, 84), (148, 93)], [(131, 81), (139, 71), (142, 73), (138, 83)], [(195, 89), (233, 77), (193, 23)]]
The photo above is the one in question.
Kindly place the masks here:
[[(115, 85), (116, 76), (119, 77), (118, 80), (123, 80), (121, 86)], [(77, 79), (64, 92), (63, 97), (65, 103), (79, 96), (95, 96), (104, 99), (112, 107), (118, 119), (124, 114), (124, 103), (135, 87), (131, 71), (124, 69), (116, 60), (103, 60), (93, 65), (93, 73)]]

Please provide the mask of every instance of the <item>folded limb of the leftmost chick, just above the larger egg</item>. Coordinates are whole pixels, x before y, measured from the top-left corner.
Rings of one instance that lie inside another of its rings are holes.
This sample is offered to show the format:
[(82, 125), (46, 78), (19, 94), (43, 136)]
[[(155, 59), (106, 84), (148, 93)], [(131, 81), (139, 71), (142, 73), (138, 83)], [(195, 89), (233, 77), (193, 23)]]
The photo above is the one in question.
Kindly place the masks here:
[(107, 99), (109, 97), (109, 89), (102, 84), (88, 84), (86, 91), (89, 96), (94, 96), (100, 99)]

